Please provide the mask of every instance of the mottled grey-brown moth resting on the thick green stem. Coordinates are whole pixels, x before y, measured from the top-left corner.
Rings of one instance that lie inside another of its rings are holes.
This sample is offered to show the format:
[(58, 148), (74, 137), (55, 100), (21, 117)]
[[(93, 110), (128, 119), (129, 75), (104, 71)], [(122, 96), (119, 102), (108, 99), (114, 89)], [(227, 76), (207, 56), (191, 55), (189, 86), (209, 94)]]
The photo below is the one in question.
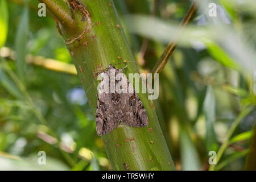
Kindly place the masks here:
[[(104, 71), (106, 77), (102, 77), (101, 83), (109, 82), (108, 85), (111, 85), (113, 79), (115, 85), (120, 85), (121, 81), (123, 83), (126, 82), (126, 88), (122, 89), (127, 92), (118, 93), (115, 90), (113, 93), (110, 92), (111, 86), (109, 86), (109, 88), (105, 88), (109, 90), (106, 93), (102, 92), (102, 88), (100, 87), (96, 110), (96, 131), (100, 136), (113, 131), (119, 125), (119, 122), (133, 127), (148, 126), (146, 109), (137, 93), (135, 93), (133, 86), (123, 74), (123, 69), (115, 68), (110, 64), (106, 71)], [(114, 77), (117, 77), (118, 73), (122, 73), (123, 76), (118, 80), (113, 77), (113, 73)]]

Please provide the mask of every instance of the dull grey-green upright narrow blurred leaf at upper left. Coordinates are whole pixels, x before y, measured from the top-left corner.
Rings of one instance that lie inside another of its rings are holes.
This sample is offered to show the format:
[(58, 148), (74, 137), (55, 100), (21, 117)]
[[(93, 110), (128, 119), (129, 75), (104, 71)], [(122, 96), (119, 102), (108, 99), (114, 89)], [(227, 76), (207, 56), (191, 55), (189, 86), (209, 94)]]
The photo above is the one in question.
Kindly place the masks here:
[(16, 32), (15, 39), (15, 51), (16, 51), (16, 69), (18, 77), (21, 81), (24, 81), (24, 72), (26, 64), (26, 45), (28, 37), (28, 7), (24, 6), (23, 14), (19, 21), (18, 30)]

